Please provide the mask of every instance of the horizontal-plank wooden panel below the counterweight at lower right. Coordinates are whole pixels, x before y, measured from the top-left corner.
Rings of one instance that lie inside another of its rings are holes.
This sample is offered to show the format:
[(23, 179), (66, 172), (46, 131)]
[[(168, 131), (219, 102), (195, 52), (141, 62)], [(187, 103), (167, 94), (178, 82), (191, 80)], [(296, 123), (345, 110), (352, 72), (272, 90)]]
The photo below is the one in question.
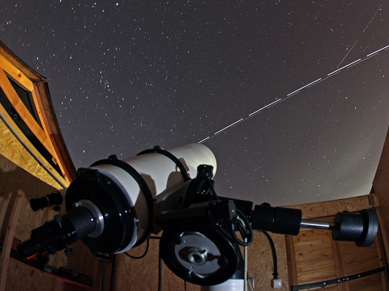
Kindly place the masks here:
[[(333, 217), (326, 220), (332, 221)], [(357, 247), (354, 242), (334, 241), (327, 230), (305, 228), (298, 236), (290, 237), (287, 248), (290, 250), (289, 285), (300, 285), (300, 288), (301, 285), (347, 278), (385, 266), (380, 234), (371, 246)], [(385, 274), (377, 272), (349, 282), (324, 286), (325, 290), (334, 291), (382, 291), (387, 290)]]

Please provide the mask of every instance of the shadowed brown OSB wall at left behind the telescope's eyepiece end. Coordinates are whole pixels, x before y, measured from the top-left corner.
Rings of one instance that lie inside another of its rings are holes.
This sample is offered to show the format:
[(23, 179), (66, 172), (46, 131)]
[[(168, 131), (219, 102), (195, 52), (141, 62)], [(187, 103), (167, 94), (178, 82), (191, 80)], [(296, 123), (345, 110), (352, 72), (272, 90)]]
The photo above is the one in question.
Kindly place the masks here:
[[(53, 216), (58, 214), (58, 212), (54, 211), (52, 208), (38, 210), (36, 212), (31, 210), (29, 205), (31, 198), (50, 194), (55, 188), (18, 167), (2, 155), (0, 155), (0, 178), (0, 210), (2, 209), (1, 206), (5, 205), (4, 203), (9, 199), (8, 208), (4, 212), (5, 223), (1, 227), (1, 234), (4, 235), (8, 229), (7, 221), (12, 214), (12, 207), (18, 195), (21, 195), (21, 200), (19, 202), (19, 213), (16, 218), (17, 221), (15, 223), (14, 235), (15, 238), (19, 240), (28, 240), (32, 229), (43, 225), (46, 221), (53, 220)], [(64, 213), (66, 213), (66, 211), (61, 209), (60, 214)], [(52, 256), (49, 264), (53, 267), (58, 268), (62, 266), (84, 275), (97, 277), (97, 281), (95, 280), (94, 282), (94, 286), (97, 290), (100, 286), (98, 259), (91, 255), (88, 248), (82, 242), (75, 243), (72, 245), (72, 248), (75, 253), (73, 258), (67, 258), (64, 255), (64, 252), (60, 251)], [(7, 291), (23, 290), (24, 288), (19, 289), (22, 282), (24, 284), (23, 286), (29, 284), (29, 290), (43, 290), (42, 284), (47, 286), (47, 289), (45, 288), (44, 290), (81, 290), (81, 287), (79, 286), (69, 287), (73, 285), (67, 281), (58, 280), (57, 278), (50, 277), (41, 272), (32, 271), (32, 269), (26, 265), (12, 259), (9, 261), (9, 266), (6, 271), (5, 290)]]

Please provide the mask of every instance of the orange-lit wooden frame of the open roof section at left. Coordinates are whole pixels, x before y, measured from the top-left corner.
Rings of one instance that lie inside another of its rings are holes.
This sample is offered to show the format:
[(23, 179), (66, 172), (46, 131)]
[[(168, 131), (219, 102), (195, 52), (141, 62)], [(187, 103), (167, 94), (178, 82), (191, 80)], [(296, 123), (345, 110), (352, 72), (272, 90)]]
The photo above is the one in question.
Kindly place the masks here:
[[(15, 81), (24, 90), (31, 92), (42, 127), (20, 100), (8, 78)], [(59, 174), (64, 177), (62, 184), (69, 185), (76, 176), (76, 170), (59, 129), (46, 78), (26, 65), (1, 41), (0, 86), (20, 118), (53, 156), (53, 161), (62, 172)], [(10, 123), (14, 124), (12, 119), (9, 120), (8, 124)], [(25, 136), (21, 138), (24, 140)], [(26, 144), (31, 145), (28, 141), (26, 142)]]

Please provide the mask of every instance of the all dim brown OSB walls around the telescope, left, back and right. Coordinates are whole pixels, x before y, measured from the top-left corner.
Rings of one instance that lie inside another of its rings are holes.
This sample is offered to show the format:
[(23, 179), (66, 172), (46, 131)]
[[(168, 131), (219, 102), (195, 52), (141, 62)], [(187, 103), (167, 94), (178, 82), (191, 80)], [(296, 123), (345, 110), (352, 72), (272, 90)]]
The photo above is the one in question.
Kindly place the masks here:
[[(377, 175), (374, 179), (374, 190), (376, 194), (372, 195), (376, 202), (379, 202), (377, 211), (381, 214), (382, 220), (380, 225), (384, 231), (384, 238), (388, 241), (388, 225), (389, 221), (389, 141), (385, 144), (383, 156), (381, 158)], [(51, 193), (53, 187), (43, 183), (41, 180), (30, 175), (22, 170), (8, 159), (0, 155), (0, 198), (12, 195), (11, 200), (15, 199), (18, 193), (23, 194), (23, 206), (18, 219), (18, 227), (16, 229), (16, 237), (26, 240), (29, 238), (31, 229), (42, 225), (45, 221), (51, 220), (55, 212), (53, 210), (32, 212), (27, 201), (32, 197), (42, 196)], [(5, 182), (3, 182), (5, 181)], [(11, 201), (12, 204), (12, 201)], [(11, 205), (10, 204), (10, 205)], [(293, 206), (303, 211), (304, 218), (318, 218), (334, 215), (338, 211), (349, 210), (356, 211), (365, 208), (371, 208), (367, 196), (354, 197), (336, 201), (312, 203), (299, 206)], [(63, 210), (62, 210), (63, 211)], [(9, 215), (9, 213), (7, 213)], [(4, 231), (4, 229), (2, 229)], [(287, 269), (287, 249), (285, 247), (285, 238), (283, 235), (271, 234), (277, 250), (279, 277), (283, 281), (281, 291), (289, 290), (289, 279)], [(114, 273), (113, 290), (157, 290), (158, 288), (158, 247), (159, 242), (152, 240), (150, 242), (149, 253), (144, 259), (134, 260), (127, 258), (123, 254), (116, 256), (116, 265)], [(388, 249), (387, 243), (384, 243), (385, 249)], [(132, 255), (140, 255), (143, 253), (145, 245), (129, 251)], [(82, 243), (78, 243), (75, 247), (76, 256), (68, 259), (63, 255), (63, 252), (53, 256), (53, 261), (50, 263), (56, 266), (64, 265), (71, 269), (75, 269), (85, 275), (95, 277), (94, 290), (99, 289), (99, 269), (101, 261), (93, 258), (90, 252)], [(79, 251), (79, 249), (82, 249)], [(266, 238), (260, 233), (255, 232), (255, 239), (248, 248), (248, 273), (250, 277), (255, 277), (255, 288), (261, 291), (273, 290), (270, 286), (272, 278), (272, 258), (270, 246)], [(109, 272), (109, 268), (107, 270)], [(6, 290), (19, 290), (20, 278), (25, 278), (28, 284), (31, 284), (31, 290), (40, 290), (38, 286), (44, 284), (47, 290), (79, 290), (79, 286), (69, 285), (66, 281), (58, 281), (47, 275), (42, 275), (39, 272), (32, 272), (30, 269), (20, 265), (20, 263), (11, 261), (8, 268), (8, 277)], [(36, 283), (36, 286), (33, 285)], [(109, 274), (106, 274), (106, 286), (109, 285)], [(25, 285), (24, 285), (25, 286)], [(69, 287), (71, 286), (71, 287)], [(73, 289), (71, 289), (73, 288)], [(187, 284), (188, 291), (199, 291), (201, 288), (196, 285)], [(106, 290), (107, 289), (106, 287)], [(184, 282), (182, 279), (174, 275), (170, 270), (163, 265), (162, 290), (184, 290)]]

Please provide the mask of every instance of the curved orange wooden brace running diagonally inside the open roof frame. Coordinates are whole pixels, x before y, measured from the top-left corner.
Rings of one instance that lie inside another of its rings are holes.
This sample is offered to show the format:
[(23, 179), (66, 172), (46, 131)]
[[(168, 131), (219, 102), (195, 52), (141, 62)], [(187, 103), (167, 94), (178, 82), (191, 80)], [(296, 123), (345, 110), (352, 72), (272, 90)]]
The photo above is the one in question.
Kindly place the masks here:
[(43, 131), (43, 129), (40, 128), (34, 117), (20, 100), (14, 87), (12, 87), (10, 81), (8, 80), (2, 69), (0, 69), (0, 87), (5, 93), (5, 95), (8, 97), (11, 104), (14, 106), (15, 110), (18, 112), (20, 118), (23, 119), (29, 129), (31, 129), (31, 131), (34, 133), (36, 138), (42, 143), (44, 147), (46, 147), (46, 149), (54, 157), (53, 146), (49, 142), (46, 133)]

